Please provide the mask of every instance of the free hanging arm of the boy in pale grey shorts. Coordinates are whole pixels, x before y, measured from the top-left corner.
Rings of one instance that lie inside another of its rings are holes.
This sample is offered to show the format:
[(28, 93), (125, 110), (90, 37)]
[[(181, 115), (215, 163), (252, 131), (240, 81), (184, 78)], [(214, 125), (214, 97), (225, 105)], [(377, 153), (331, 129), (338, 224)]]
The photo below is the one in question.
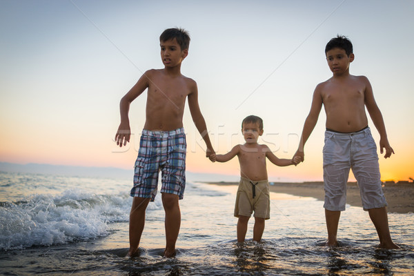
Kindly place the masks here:
[(368, 110), (368, 113), (371, 119), (373, 120), (375, 128), (377, 128), (378, 132), (380, 132), (380, 152), (383, 153), (385, 148), (384, 157), (391, 157), (391, 155), (394, 153), (394, 150), (393, 148), (391, 148), (391, 145), (388, 142), (384, 118), (382, 117), (380, 108), (378, 108), (377, 103), (375, 102), (373, 88), (371, 87), (371, 83), (369, 83), (366, 77), (362, 78), (364, 78), (364, 81), (366, 82), (364, 95), (366, 110)]

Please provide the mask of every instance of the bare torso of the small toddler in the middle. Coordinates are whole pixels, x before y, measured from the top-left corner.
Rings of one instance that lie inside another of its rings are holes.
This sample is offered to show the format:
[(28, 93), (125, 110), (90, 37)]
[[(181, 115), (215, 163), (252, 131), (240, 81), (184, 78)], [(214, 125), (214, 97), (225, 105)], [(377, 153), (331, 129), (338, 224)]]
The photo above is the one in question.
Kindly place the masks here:
[(266, 152), (268, 147), (259, 144), (239, 145), (240, 175), (251, 181), (268, 179), (266, 170)]

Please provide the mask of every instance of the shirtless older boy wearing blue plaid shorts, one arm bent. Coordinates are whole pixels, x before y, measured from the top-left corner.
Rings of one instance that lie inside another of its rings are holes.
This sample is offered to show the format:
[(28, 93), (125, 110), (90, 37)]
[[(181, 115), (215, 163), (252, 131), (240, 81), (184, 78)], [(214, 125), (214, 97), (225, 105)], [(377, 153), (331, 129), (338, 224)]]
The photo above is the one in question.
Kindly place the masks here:
[(162, 171), (161, 198), (166, 212), (164, 257), (175, 256), (175, 242), (181, 224), (178, 201), (183, 198), (186, 184), (186, 135), (182, 119), (187, 97), (191, 117), (206, 142), (206, 156), (214, 153), (206, 122), (199, 109), (197, 83), (181, 75), (181, 62), (188, 55), (190, 37), (186, 30), (171, 28), (161, 34), (159, 41), (164, 69), (146, 71), (119, 104), (121, 124), (115, 141), (121, 147), (130, 141), (130, 103), (148, 88), (146, 121), (135, 162), (134, 187), (130, 192), (134, 197), (127, 255), (130, 257), (139, 251), (145, 211), (148, 202), (155, 199), (159, 170)]

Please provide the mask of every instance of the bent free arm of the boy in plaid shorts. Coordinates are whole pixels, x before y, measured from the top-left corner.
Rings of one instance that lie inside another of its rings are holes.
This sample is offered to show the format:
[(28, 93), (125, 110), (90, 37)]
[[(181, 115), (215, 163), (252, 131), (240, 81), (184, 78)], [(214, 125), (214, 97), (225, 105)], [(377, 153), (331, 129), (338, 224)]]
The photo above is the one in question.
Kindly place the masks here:
[(149, 78), (150, 78), (150, 71), (144, 73), (144, 75), (139, 78), (135, 86), (126, 93), (124, 97), (122, 97), (121, 101), (119, 102), (119, 112), (121, 113), (121, 124), (119, 124), (117, 134), (115, 135), (115, 141), (117, 145), (121, 147), (122, 145), (126, 146), (126, 143), (130, 141), (131, 137), (131, 130), (128, 118), (128, 112), (130, 103), (135, 100), (139, 95), (148, 88), (149, 85)]

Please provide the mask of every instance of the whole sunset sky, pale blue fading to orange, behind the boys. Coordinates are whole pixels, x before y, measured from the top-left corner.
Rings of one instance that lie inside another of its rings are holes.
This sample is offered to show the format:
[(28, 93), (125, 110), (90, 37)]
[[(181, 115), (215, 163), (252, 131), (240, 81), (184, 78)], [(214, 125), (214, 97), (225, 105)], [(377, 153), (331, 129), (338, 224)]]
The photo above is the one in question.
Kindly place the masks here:
[[(331, 77), (325, 45), (344, 34), (354, 46), (351, 74), (371, 81), (395, 150), (380, 157), (382, 179), (414, 177), (413, 14), (414, 1), (405, 0), (1, 0), (0, 161), (132, 168), (146, 95), (131, 105), (133, 135), (121, 149), (113, 141), (119, 100), (143, 72), (162, 68), (159, 34), (177, 26), (190, 32), (181, 72), (197, 81), (217, 152), (243, 143), (242, 119), (257, 115), (259, 143), (292, 157), (313, 90)], [(322, 111), (304, 163), (268, 162), (270, 180), (322, 179), (324, 122)], [(187, 170), (239, 175), (237, 159), (204, 157), (188, 107), (184, 128)]]

